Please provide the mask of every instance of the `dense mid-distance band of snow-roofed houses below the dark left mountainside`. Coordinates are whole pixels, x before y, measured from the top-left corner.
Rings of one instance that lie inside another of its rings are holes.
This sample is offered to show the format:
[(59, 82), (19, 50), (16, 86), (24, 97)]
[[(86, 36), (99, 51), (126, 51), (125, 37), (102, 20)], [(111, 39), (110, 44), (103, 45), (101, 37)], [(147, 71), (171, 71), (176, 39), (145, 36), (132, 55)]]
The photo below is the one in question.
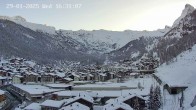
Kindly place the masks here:
[(0, 61), (0, 85), (9, 83), (69, 83), (72, 81), (104, 82), (118, 78), (119, 81), (132, 73), (131, 69), (105, 68), (104, 66), (84, 67), (78, 70), (39, 67), (23, 58), (11, 58)]

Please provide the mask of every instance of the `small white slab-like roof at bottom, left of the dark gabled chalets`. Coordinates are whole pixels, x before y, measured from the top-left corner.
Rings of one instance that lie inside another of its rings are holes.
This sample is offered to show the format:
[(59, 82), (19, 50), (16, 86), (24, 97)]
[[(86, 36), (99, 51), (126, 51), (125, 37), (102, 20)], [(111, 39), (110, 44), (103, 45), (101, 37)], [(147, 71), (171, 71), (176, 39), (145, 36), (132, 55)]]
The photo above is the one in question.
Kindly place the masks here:
[(41, 106), (47, 106), (47, 107), (55, 107), (60, 108), (64, 104), (64, 100), (56, 101), (56, 100), (45, 100), (43, 103), (41, 103)]

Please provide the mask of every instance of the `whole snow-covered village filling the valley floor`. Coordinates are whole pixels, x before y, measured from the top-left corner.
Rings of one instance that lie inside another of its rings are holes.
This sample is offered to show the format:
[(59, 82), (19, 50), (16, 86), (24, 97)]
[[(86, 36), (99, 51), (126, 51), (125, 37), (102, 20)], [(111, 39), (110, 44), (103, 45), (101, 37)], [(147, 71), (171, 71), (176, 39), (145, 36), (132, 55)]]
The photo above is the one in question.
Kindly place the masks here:
[[(15, 110), (147, 110), (152, 87), (162, 86), (169, 94), (187, 88), (163, 83), (153, 74), (157, 67), (158, 61), (147, 57), (137, 63), (123, 60), (74, 69), (38, 66), (23, 58), (1, 59), (0, 106)], [(157, 100), (161, 107), (162, 99)]]

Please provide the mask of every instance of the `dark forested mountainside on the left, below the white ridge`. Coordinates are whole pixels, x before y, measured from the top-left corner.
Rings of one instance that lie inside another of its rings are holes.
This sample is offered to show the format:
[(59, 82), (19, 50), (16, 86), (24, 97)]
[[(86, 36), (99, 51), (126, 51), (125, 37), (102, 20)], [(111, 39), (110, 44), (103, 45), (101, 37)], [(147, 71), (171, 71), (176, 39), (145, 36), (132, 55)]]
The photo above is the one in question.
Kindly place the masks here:
[(72, 38), (33, 31), (9, 20), (0, 19), (0, 53), (18, 56), (39, 63), (59, 61), (96, 62), (99, 58), (87, 54), (88, 49)]

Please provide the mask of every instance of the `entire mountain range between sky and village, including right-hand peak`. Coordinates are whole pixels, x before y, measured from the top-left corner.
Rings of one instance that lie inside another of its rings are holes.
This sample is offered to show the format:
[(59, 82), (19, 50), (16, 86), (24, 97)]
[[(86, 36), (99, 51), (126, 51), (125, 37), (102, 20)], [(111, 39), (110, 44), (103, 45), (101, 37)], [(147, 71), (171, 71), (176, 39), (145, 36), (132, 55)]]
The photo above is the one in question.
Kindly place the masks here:
[[(154, 56), (170, 62), (195, 44), (196, 11), (186, 5), (172, 27), (156, 31), (56, 30), (15, 16), (0, 16), (1, 55), (39, 62), (100, 62)], [(9, 37), (7, 37), (9, 36)], [(10, 45), (11, 44), (11, 45)]]

